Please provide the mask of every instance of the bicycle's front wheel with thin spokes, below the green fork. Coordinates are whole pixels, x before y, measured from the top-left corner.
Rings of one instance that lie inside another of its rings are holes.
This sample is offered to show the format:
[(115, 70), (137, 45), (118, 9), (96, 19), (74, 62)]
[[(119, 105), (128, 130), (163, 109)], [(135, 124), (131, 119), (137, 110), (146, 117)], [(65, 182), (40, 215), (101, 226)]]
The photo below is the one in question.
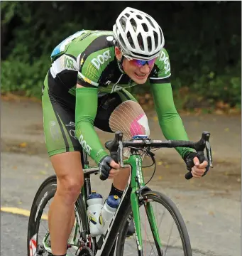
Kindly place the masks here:
[[(120, 228), (116, 256), (192, 256), (185, 222), (170, 198), (156, 191), (143, 193), (139, 210), (142, 246), (137, 245), (136, 234), (126, 238), (128, 230), (128, 221), (126, 221)], [(126, 219), (131, 218), (130, 205), (126, 210)], [(155, 223), (153, 226), (156, 228), (150, 228), (150, 223)]]

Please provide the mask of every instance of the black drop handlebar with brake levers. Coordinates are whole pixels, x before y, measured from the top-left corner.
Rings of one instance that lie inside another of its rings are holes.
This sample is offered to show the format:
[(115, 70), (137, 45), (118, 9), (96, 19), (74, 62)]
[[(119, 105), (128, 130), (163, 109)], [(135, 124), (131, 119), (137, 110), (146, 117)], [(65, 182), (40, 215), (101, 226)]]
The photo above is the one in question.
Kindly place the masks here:
[[(205, 159), (204, 157), (204, 149), (206, 149), (207, 153), (207, 160), (208, 165), (206, 171), (204, 173), (207, 174), (209, 167), (213, 167), (212, 158), (211, 158), (211, 146), (209, 144), (210, 133), (209, 132), (202, 132), (202, 137), (199, 139), (198, 142), (192, 141), (182, 141), (182, 140), (150, 140), (150, 139), (133, 139), (133, 140), (126, 140), (123, 141), (123, 133), (116, 132), (114, 139), (106, 142), (105, 147), (109, 149), (110, 156), (114, 161), (117, 163), (119, 162), (121, 167), (123, 167), (123, 148), (124, 147), (132, 147), (143, 149), (145, 147), (155, 147), (155, 148), (176, 148), (176, 147), (188, 147), (191, 149), (195, 149), (197, 151), (197, 157), (199, 162), (202, 163)], [(193, 165), (192, 165), (193, 166)], [(192, 166), (188, 166), (189, 172), (185, 174), (186, 179), (192, 178)], [(101, 178), (101, 177), (100, 177)]]

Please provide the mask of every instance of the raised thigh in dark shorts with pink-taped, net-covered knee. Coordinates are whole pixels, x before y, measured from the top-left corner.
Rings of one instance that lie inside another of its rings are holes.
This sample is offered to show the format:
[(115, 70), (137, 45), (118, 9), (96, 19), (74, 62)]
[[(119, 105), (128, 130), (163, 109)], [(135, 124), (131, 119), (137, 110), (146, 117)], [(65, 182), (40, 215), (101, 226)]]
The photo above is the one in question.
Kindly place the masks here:
[(94, 125), (105, 132), (123, 132), (125, 139), (150, 135), (148, 119), (141, 105), (127, 90), (120, 90), (99, 99)]

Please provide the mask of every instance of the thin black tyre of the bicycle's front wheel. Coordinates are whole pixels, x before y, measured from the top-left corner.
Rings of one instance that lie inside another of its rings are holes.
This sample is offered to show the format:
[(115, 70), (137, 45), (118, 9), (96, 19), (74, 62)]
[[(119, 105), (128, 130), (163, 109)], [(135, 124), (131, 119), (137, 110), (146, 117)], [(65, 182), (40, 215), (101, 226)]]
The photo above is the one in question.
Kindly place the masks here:
[[(151, 199), (155, 202), (161, 203), (169, 211), (170, 215), (172, 215), (173, 220), (175, 220), (175, 224), (177, 225), (177, 229), (180, 233), (184, 256), (192, 256), (192, 248), (191, 248), (187, 228), (180, 211), (177, 209), (177, 206), (175, 206), (175, 203), (173, 203), (172, 200), (167, 196), (165, 196), (163, 193), (160, 193), (157, 191), (148, 191), (143, 193), (142, 196), (143, 196), (143, 199)], [(140, 207), (141, 205), (142, 203), (140, 204)], [(125, 219), (128, 219), (130, 215), (131, 215), (131, 204), (128, 206), (126, 210)], [(123, 248), (126, 240), (128, 224), (129, 224), (128, 220), (124, 221), (121, 224), (119, 237), (116, 243), (116, 256), (123, 256)]]

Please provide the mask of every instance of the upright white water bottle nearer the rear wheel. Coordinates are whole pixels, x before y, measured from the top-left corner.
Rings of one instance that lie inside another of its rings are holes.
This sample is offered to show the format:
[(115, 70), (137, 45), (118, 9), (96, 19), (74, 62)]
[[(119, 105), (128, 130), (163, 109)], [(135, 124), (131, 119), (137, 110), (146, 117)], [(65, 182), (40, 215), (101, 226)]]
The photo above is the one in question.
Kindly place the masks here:
[(92, 191), (92, 194), (87, 197), (87, 205), (90, 233), (93, 236), (101, 235), (104, 232), (100, 216), (101, 208), (103, 206), (102, 196), (99, 193)]

